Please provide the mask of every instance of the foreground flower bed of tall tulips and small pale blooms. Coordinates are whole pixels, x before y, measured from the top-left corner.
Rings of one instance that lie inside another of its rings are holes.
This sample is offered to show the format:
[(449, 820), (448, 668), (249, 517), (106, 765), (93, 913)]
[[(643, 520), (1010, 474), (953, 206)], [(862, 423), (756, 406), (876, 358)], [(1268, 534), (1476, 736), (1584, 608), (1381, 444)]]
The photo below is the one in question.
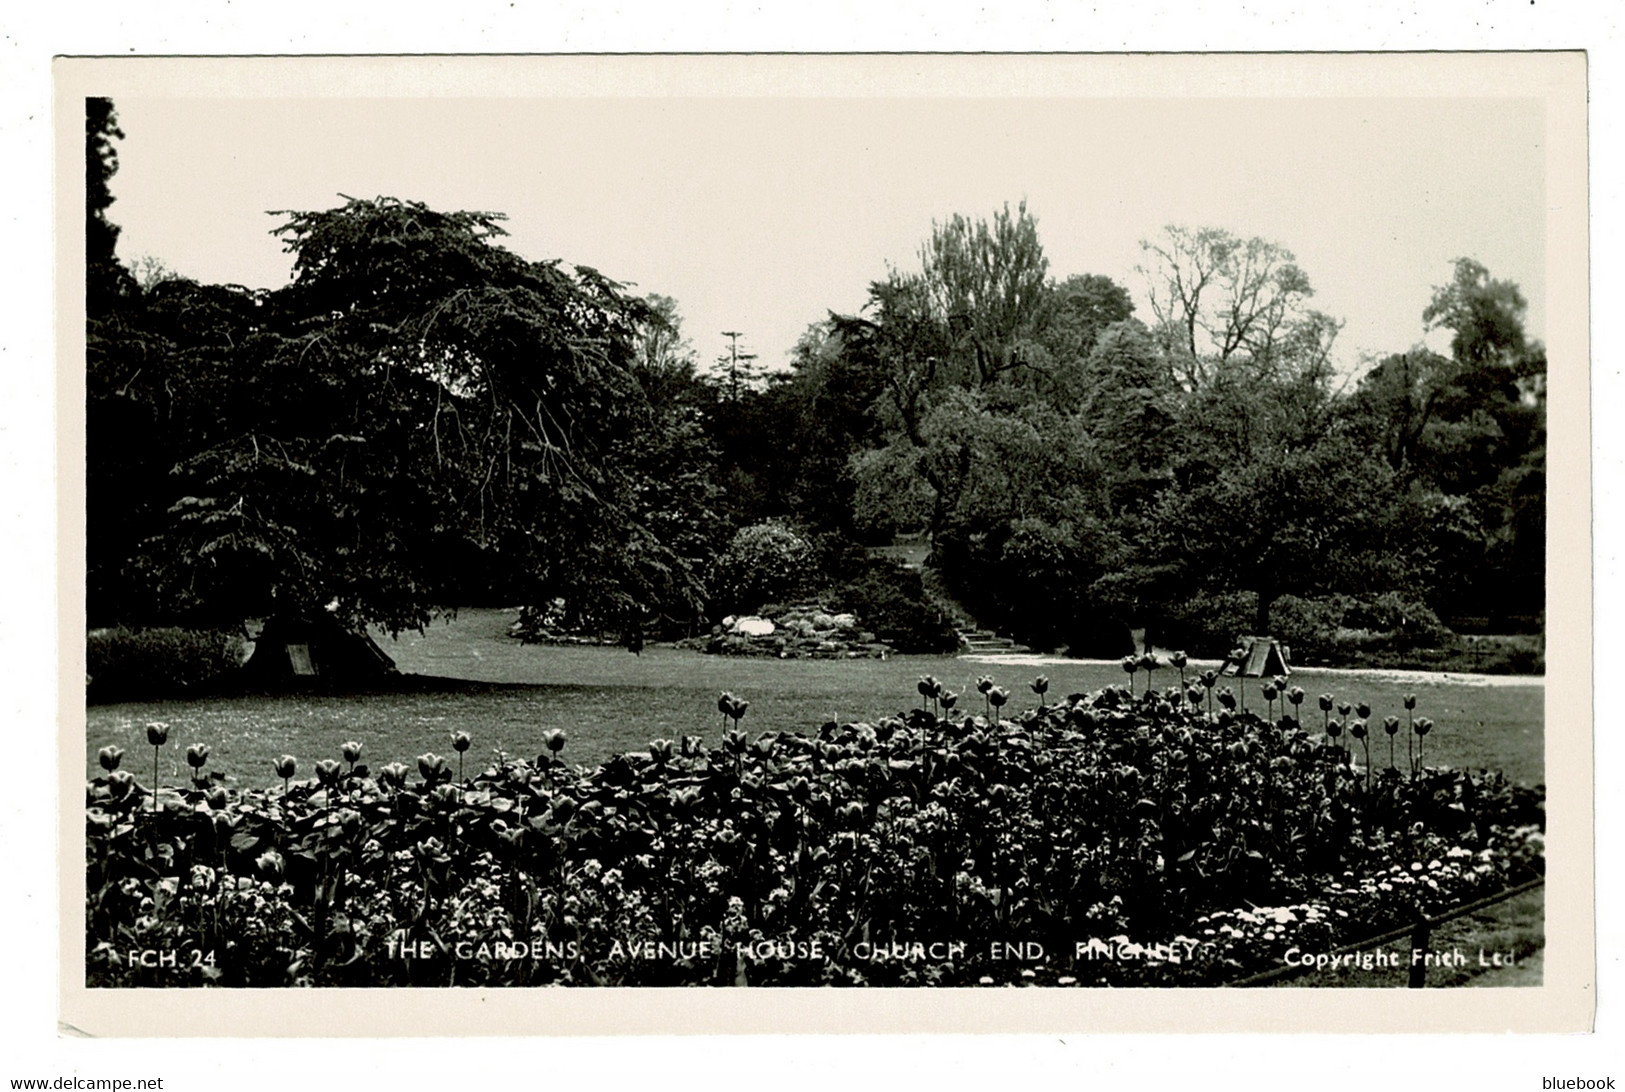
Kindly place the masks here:
[(1172, 692), (814, 734), (723, 707), (717, 748), (595, 769), (557, 733), (463, 777), (458, 734), (239, 793), (193, 749), (156, 809), (110, 754), (88, 983), (1219, 985), (1544, 868), (1539, 790)]

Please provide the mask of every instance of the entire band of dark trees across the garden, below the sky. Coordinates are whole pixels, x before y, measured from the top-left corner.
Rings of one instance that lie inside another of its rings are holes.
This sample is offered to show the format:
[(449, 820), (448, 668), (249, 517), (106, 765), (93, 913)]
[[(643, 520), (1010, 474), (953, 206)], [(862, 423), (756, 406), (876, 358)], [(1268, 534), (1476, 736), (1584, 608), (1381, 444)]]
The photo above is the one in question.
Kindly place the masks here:
[(93, 624), (523, 601), (640, 640), (738, 608), (722, 554), (767, 522), (830, 582), (923, 535), (982, 621), (1079, 653), (1316, 603), (1539, 624), (1544, 349), (1476, 262), (1419, 301), (1448, 356), (1347, 384), (1279, 244), (1170, 228), (1139, 314), (1055, 278), (1025, 206), (954, 216), (741, 382), (674, 301), (520, 257), (496, 213), (346, 198), (280, 214), (284, 288), (136, 278), (117, 136), (88, 101)]

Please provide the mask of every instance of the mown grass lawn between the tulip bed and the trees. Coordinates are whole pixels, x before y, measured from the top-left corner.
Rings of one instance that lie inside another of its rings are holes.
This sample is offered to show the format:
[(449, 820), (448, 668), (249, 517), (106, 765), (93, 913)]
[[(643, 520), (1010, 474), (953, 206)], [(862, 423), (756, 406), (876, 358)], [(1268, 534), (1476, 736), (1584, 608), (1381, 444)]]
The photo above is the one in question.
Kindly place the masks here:
[[(185, 748), (206, 743), (208, 769), (226, 774), (229, 785), (247, 786), (280, 780), (271, 760), (284, 752), (299, 759), (299, 777), (309, 777), (314, 762), (338, 757), (346, 739), (361, 741), (362, 760), (374, 765), (411, 765), (426, 751), (455, 764), (448, 736), (462, 730), (473, 736), (471, 769), (496, 751), (535, 757), (549, 728), (566, 730), (562, 757), (583, 765), (642, 751), (650, 739), (696, 734), (717, 743), (723, 730), (717, 696), (725, 689), (751, 702), (741, 726), (759, 733), (811, 731), (826, 720), (897, 713), (920, 704), (915, 682), (921, 674), (934, 674), (959, 691), (960, 708), (968, 712), (982, 712), (977, 676), (991, 674), (1012, 694), (1006, 713), (1037, 704), (1027, 687), (1037, 674), (1050, 678), (1051, 700), (1126, 681), (1113, 663), (1037, 658), (734, 660), (674, 648), (645, 648), (634, 656), (621, 648), (526, 647), (505, 635), (512, 618), (507, 611), (463, 611), (455, 622), (436, 624), (421, 637), (382, 640), (401, 671), (466, 679), (444, 691), (94, 705), (86, 710), (86, 770), (98, 770), (99, 748), (119, 744), (130, 751), (127, 769), (145, 783), (151, 777), (145, 738), (151, 720), (171, 725), (169, 744), (159, 754), (166, 785), (185, 780)], [(1303, 704), (1306, 728), (1321, 722), (1318, 694), (1372, 704), (1378, 730), (1372, 759), (1378, 765), (1388, 760), (1388, 739), (1378, 725), (1389, 713), (1404, 720), (1401, 697), (1412, 692), (1415, 715), (1435, 723), (1427, 738), (1430, 765), (1498, 769), (1526, 783), (1544, 780), (1545, 691), (1539, 679), (1331, 670), (1300, 670), (1292, 678), (1310, 694)], [(1172, 670), (1155, 673), (1157, 686), (1176, 681)], [(1144, 674), (1138, 686), (1144, 686)], [(1248, 707), (1263, 708), (1256, 681), (1248, 682)], [(1404, 734), (1396, 754), (1404, 765)]]

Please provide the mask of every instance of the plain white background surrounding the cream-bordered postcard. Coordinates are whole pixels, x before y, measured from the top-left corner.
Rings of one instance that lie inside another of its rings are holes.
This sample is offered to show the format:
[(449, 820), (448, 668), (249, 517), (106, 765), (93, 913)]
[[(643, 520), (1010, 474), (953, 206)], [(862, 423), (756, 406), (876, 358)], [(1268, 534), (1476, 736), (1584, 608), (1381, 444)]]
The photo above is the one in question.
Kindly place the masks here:
[[(166, 1089), (283, 1089), (340, 1084), (424, 1087), (445, 1081), (554, 1086), (590, 1081), (830, 1087), (934, 1082), (1069, 1086), (1540, 1089), (1542, 1076), (1625, 1079), (1618, 892), (1622, 767), (1617, 705), (1597, 707), (1596, 1035), (1571, 1037), (1032, 1037), (1032, 1038), (734, 1038), (734, 1040), (392, 1040), (392, 1042), (84, 1042), (55, 1027), (57, 874), (54, 778), (55, 455), (50, 341), (52, 54), (400, 54), (644, 50), (1300, 50), (1575, 49), (1589, 50), (1592, 96), (1592, 398), (1596, 434), (1596, 661), (1618, 661), (1612, 604), (1618, 525), (1622, 296), (1618, 128), (1622, 37), (1612, 3), (1310, 5), (1245, 3), (1198, 15), (1178, 3), (947, 5), (822, 3), (770, 11), (754, 3), (442, 5), (174, 3), (158, 20), (132, 3), (11, 5), (0, 16), (0, 481), (5, 483), (5, 592), (0, 665), (10, 733), (0, 769), (0, 1089), (13, 1077), (162, 1076)], [(1219, 5), (1212, 5), (1219, 6)], [(18, 10), (21, 8), (21, 10)], [(1290, 242), (1290, 240), (1289, 240)], [(1554, 557), (1557, 564), (1581, 559)], [(1560, 574), (1554, 574), (1560, 578)]]

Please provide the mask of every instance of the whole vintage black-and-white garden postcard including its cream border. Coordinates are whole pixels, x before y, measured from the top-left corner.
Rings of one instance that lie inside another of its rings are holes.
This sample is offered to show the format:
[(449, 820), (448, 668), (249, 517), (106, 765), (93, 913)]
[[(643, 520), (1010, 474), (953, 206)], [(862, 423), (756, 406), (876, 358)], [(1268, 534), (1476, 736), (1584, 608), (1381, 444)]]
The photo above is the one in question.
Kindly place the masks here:
[(1581, 54), (465, 60), (60, 63), (65, 996), (1589, 1020)]

